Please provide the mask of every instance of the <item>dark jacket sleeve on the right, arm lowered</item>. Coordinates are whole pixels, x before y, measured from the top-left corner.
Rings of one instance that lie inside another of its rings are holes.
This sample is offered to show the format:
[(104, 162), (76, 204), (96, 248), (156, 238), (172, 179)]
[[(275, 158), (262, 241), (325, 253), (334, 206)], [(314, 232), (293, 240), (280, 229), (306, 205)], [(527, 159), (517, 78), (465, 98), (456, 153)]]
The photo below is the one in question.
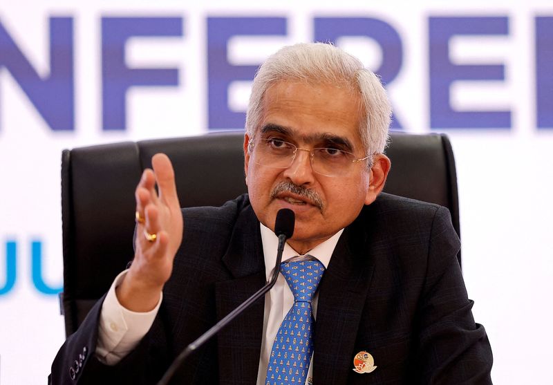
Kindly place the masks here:
[(456, 254), (449, 212), (435, 213), (421, 297), (418, 359), (422, 384), (491, 384), (492, 354), (484, 327), (474, 322)]

